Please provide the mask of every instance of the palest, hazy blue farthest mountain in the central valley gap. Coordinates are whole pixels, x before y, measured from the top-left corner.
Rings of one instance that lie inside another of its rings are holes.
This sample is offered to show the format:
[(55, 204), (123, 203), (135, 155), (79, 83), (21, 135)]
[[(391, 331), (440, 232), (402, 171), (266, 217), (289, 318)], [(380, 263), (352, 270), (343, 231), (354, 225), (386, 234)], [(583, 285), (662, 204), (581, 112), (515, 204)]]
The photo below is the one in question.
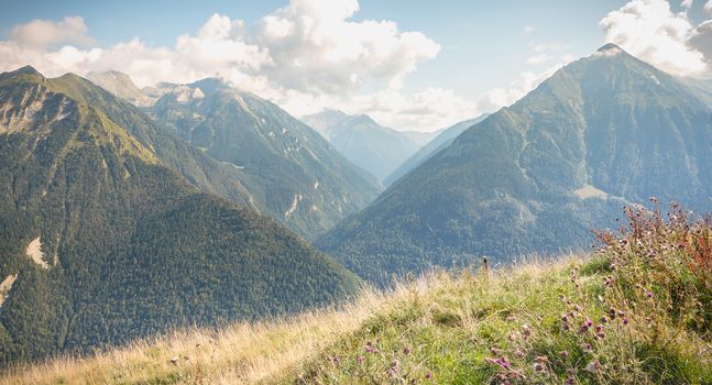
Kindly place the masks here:
[(336, 110), (307, 116), (302, 120), (315, 128), (353, 164), (379, 180), (384, 180), (437, 134), (397, 131), (376, 123), (369, 116), (349, 116)]

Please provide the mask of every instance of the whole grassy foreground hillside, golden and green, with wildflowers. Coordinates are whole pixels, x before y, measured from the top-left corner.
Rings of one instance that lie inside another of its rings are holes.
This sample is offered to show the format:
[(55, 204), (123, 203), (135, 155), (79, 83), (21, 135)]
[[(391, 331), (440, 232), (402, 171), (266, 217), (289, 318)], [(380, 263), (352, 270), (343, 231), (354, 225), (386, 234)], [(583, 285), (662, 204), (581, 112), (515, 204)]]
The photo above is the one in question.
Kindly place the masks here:
[(627, 208), (590, 255), (15, 367), (0, 384), (712, 384), (712, 223)]

